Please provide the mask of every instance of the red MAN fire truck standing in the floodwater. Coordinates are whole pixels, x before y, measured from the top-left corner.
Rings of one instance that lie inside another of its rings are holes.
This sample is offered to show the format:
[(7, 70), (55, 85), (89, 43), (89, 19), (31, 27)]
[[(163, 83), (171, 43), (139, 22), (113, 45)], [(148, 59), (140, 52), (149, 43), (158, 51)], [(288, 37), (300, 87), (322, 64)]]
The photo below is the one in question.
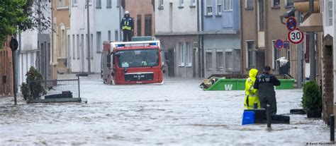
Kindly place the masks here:
[(101, 78), (111, 85), (162, 83), (159, 40), (103, 42)]

